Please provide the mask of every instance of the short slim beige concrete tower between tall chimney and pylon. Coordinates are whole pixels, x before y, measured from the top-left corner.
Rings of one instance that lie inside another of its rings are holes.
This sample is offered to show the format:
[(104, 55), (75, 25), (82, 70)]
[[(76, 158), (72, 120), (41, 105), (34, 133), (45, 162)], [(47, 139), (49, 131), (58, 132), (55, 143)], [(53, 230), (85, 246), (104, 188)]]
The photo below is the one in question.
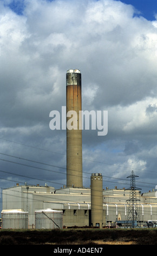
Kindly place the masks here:
[(91, 174), (91, 226), (103, 227), (102, 174)]

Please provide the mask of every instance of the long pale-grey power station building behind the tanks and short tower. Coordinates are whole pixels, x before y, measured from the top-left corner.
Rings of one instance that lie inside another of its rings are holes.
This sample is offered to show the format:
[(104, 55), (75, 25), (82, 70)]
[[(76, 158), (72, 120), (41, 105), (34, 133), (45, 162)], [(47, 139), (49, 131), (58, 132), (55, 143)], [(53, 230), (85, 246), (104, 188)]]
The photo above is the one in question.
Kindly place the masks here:
[[(116, 223), (121, 226), (127, 220), (128, 203), (126, 201), (129, 198), (129, 192), (125, 188), (118, 189), (116, 187), (102, 191), (101, 221), (104, 227), (116, 225)], [(140, 200), (138, 210), (141, 226), (146, 225), (148, 221), (157, 220), (155, 191), (143, 194), (141, 191), (137, 191), (137, 197)], [(55, 191), (54, 187), (47, 185), (17, 185), (3, 190), (2, 214), (12, 211), (17, 215), (13, 210), (23, 212), (24, 215), (25, 212), (28, 212), (28, 228), (35, 228), (35, 212), (42, 209), (62, 210), (64, 227), (90, 227), (92, 223), (91, 190), (90, 188), (69, 187)], [(99, 209), (96, 210), (96, 212), (98, 211)]]

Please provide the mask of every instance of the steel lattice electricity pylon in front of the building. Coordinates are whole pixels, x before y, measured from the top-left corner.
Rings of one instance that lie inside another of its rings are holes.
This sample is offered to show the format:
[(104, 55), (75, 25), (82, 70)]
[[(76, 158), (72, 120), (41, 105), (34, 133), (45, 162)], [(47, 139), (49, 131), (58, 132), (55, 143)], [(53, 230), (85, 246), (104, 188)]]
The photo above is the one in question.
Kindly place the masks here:
[(127, 190), (130, 190), (129, 199), (126, 200), (128, 202), (128, 215), (127, 215), (127, 222), (126, 227), (135, 228), (138, 226), (139, 221), (139, 212), (138, 212), (138, 201), (139, 199), (136, 198), (136, 190), (141, 190), (141, 188), (136, 187), (135, 185), (135, 177), (138, 177), (134, 174), (132, 170), (131, 175), (127, 178), (130, 178), (130, 187)]

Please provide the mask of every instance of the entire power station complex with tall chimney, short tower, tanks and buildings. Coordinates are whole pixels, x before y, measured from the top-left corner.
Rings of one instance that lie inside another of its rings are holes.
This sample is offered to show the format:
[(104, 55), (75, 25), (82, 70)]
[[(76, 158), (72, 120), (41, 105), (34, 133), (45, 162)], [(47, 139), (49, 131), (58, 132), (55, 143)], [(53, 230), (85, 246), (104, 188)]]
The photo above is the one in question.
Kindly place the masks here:
[[(70, 111), (76, 111), (76, 129), (67, 129), (67, 184), (54, 187), (16, 184), (2, 192), (2, 228), (104, 228), (123, 226), (127, 221), (130, 190), (103, 188), (103, 176), (96, 170), (90, 176), (89, 188), (82, 181), (82, 130), (79, 111), (82, 109), (81, 72), (69, 69), (66, 74), (67, 124)], [(157, 221), (155, 190), (141, 194), (138, 199), (139, 224)]]

